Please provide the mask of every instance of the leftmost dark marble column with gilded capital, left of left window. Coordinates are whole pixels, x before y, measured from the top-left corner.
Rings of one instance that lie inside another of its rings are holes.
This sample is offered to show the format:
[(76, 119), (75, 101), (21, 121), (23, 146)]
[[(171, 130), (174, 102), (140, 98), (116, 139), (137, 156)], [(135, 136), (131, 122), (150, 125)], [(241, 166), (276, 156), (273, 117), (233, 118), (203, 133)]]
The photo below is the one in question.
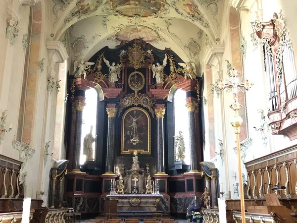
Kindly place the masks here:
[(74, 130), (74, 145), (73, 145), (73, 162), (72, 169), (79, 169), (81, 139), (82, 139), (82, 124), (83, 124), (83, 109), (86, 105), (85, 101), (75, 101), (75, 130)]

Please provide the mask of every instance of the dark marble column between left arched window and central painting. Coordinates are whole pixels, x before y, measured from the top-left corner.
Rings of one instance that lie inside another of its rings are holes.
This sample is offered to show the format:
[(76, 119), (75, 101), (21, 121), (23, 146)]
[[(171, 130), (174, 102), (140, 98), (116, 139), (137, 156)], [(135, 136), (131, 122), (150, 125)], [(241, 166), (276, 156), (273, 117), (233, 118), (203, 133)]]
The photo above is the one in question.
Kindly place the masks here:
[(114, 174), (114, 127), (117, 108), (106, 108), (108, 115), (105, 174)]

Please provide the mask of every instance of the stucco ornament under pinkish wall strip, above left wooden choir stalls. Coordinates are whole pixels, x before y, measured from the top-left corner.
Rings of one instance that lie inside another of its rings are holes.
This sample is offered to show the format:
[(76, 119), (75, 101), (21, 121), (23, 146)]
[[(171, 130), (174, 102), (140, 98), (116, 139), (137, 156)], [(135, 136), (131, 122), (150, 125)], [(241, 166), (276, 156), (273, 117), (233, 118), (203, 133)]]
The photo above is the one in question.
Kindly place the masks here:
[(23, 162), (21, 169), (24, 169), (27, 161), (32, 159), (35, 150), (30, 147), (29, 142), (23, 143), (16, 141), (15, 136), (12, 140), (12, 147), (19, 152), (19, 160)]

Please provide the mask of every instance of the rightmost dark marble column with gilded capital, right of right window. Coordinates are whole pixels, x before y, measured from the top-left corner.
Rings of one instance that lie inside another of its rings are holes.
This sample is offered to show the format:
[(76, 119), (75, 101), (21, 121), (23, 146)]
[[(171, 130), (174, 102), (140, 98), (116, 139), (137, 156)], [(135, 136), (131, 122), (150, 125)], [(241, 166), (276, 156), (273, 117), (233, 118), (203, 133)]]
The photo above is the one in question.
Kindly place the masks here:
[(189, 111), (189, 136), (190, 136), (190, 172), (198, 172), (197, 170), (197, 148), (196, 148), (196, 125), (195, 110), (198, 105), (196, 102), (187, 102), (186, 107)]

